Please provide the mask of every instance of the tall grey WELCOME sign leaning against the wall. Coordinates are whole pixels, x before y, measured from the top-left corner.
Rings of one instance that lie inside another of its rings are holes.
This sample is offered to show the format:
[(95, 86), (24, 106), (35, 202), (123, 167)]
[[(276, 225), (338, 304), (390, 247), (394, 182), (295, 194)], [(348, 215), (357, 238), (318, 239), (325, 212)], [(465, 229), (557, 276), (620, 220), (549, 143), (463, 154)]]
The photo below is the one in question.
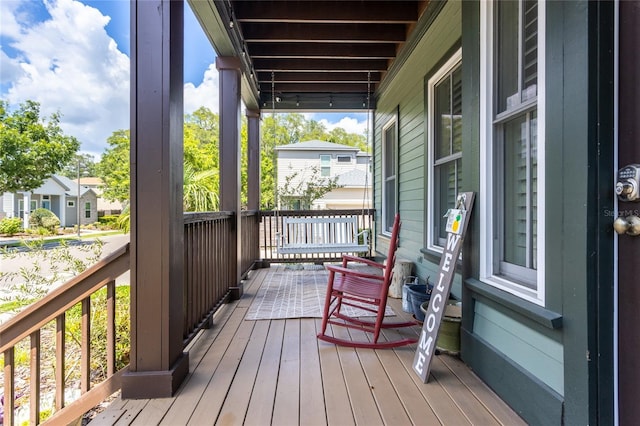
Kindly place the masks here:
[(427, 383), (429, 378), (438, 331), (449, 300), (449, 293), (451, 293), (456, 261), (460, 257), (460, 250), (462, 250), (462, 240), (469, 224), (473, 198), (473, 192), (459, 194), (456, 208), (449, 210), (445, 215), (447, 217), (447, 244), (440, 259), (437, 283), (431, 292), (431, 301), (424, 317), (418, 348), (413, 358), (413, 370), (420, 376), (423, 383)]

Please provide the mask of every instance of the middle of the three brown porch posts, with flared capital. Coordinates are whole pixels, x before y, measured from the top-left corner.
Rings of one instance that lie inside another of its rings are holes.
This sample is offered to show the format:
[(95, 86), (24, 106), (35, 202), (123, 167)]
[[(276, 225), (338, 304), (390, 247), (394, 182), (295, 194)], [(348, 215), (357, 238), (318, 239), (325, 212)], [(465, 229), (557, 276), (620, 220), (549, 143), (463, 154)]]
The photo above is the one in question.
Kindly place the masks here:
[(242, 296), (242, 218), (240, 205), (240, 59), (217, 57), (220, 81), (220, 210), (234, 213), (230, 236), (229, 287)]

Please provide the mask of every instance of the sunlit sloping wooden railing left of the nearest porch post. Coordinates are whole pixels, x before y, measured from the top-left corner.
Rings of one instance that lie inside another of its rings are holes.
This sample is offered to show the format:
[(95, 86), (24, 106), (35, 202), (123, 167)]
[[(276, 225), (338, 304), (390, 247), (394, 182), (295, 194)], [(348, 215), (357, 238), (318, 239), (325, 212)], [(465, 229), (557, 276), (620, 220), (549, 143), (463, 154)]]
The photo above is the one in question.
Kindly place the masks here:
[[(49, 420), (82, 416), (88, 409), (120, 389), (124, 368), (116, 368), (116, 290), (115, 280), (129, 270), (129, 244), (111, 253), (80, 275), (30, 305), (0, 326), (0, 352), (4, 355), (4, 425), (13, 425), (16, 397), (29, 400), (29, 424), (40, 423), (42, 357), (55, 362), (55, 412)], [(106, 287), (106, 378), (97, 384), (91, 377), (91, 296)], [(66, 404), (67, 374), (73, 367), (65, 356), (68, 342), (67, 314), (80, 303), (82, 310), (80, 337), (80, 388), (82, 395)], [(54, 324), (53, 324), (54, 323)], [(28, 389), (16, 395), (16, 346), (28, 339)], [(54, 354), (43, 353), (42, 339), (52, 340)], [(54, 355), (54, 356), (52, 356)], [(55, 361), (54, 361), (55, 360)], [(67, 421), (68, 423), (68, 421)]]

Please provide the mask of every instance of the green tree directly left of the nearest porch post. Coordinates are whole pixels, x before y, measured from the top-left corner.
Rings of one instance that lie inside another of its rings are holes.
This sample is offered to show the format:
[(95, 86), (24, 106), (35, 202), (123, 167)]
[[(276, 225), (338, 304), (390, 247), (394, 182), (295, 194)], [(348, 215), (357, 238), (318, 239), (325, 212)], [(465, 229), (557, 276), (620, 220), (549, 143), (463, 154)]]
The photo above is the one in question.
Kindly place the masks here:
[(107, 200), (129, 200), (129, 131), (116, 130), (109, 136), (109, 148), (102, 154), (96, 173), (104, 182), (102, 196)]

